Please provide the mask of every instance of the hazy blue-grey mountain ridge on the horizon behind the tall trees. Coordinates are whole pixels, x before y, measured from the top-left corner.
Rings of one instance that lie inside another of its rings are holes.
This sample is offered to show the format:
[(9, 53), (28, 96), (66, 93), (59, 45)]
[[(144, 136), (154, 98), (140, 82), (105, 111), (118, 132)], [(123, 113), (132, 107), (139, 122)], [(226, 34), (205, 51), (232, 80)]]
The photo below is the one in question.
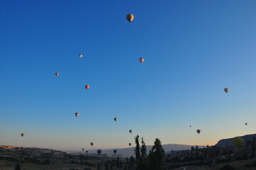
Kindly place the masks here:
[[(191, 149), (192, 145), (179, 145), (179, 144), (167, 144), (167, 145), (162, 145), (162, 147), (165, 149), (165, 152), (169, 152), (169, 151), (177, 151), (177, 150), (185, 150), (185, 149)], [(194, 147), (196, 147), (194, 145)], [(199, 148), (201, 147), (205, 147), (205, 146), (198, 146)], [(147, 151), (149, 152), (149, 150), (152, 148), (152, 145), (148, 145), (147, 146)], [(116, 149), (116, 148), (115, 148)], [(120, 148), (120, 149), (116, 149), (118, 155), (123, 155), (123, 156), (131, 156), (134, 155), (134, 149), (135, 147), (128, 147), (128, 148)], [(101, 149), (102, 150), (102, 154), (113, 154), (113, 149)], [(72, 153), (80, 153), (81, 151), (67, 151), (67, 152), (72, 152)], [(89, 150), (89, 154), (95, 154), (97, 152), (97, 149), (90, 149)]]

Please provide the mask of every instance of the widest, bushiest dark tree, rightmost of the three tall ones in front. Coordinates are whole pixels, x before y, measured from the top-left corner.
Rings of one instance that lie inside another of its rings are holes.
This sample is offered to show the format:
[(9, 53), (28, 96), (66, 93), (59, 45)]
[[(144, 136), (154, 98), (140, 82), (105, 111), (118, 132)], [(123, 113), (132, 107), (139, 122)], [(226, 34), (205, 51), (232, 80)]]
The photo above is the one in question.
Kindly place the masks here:
[(162, 149), (161, 141), (156, 138), (154, 146), (148, 154), (150, 170), (162, 170), (163, 159), (165, 157), (165, 150)]

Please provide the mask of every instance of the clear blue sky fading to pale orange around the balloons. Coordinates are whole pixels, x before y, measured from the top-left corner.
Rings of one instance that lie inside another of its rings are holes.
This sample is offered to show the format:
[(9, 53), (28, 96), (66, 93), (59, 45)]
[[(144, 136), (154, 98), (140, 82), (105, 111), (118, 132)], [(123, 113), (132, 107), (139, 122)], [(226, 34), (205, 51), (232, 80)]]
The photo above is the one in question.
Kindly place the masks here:
[(0, 145), (120, 148), (135, 135), (147, 145), (215, 145), (255, 133), (255, 8), (0, 1)]

